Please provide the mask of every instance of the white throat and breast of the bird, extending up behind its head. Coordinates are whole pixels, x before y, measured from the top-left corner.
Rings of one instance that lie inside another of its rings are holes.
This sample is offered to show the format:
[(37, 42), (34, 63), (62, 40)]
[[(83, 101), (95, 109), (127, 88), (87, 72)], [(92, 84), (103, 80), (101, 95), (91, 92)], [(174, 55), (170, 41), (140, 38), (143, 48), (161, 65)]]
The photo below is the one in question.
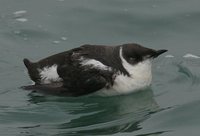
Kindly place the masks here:
[(127, 94), (148, 87), (151, 84), (152, 59), (147, 59), (138, 64), (131, 65), (123, 58), (122, 48), (120, 48), (120, 58), (123, 67), (129, 72), (130, 77), (119, 72), (112, 88), (109, 90), (102, 89), (97, 93), (98, 95)]

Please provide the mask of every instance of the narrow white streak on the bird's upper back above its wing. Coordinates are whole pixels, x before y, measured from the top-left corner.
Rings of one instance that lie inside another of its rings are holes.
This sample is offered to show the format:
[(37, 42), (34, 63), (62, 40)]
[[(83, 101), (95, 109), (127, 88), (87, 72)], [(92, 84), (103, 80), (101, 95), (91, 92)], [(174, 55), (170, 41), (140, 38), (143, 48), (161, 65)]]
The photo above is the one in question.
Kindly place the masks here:
[(95, 59), (84, 59), (83, 57), (81, 57), (80, 61), (82, 66), (91, 66), (100, 70), (111, 70), (110, 67), (104, 65), (103, 63)]

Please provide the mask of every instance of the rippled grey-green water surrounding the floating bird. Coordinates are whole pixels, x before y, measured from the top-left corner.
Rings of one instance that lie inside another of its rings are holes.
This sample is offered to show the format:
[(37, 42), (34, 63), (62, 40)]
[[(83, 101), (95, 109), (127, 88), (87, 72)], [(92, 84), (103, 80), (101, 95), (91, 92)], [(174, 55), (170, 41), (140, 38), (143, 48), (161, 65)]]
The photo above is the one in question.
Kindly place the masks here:
[[(199, 5), (199, 0), (0, 0), (0, 135), (199, 136)], [(154, 61), (146, 90), (65, 98), (19, 88), (31, 84), (25, 57), (39, 60), (86, 43), (130, 42), (169, 50)], [(196, 57), (183, 57), (188, 53)]]

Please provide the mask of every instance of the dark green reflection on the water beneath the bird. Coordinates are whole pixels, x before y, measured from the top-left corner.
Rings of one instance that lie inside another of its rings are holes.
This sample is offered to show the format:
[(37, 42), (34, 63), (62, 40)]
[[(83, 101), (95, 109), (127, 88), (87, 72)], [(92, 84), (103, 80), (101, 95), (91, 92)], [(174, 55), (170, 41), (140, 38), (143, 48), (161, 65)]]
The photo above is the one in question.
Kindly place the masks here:
[[(57, 129), (59, 135), (108, 135), (132, 132), (141, 129), (139, 123), (159, 110), (151, 89), (107, 98), (86, 96), (48, 99), (34, 94), (30, 98), (31, 103), (37, 104), (55, 102), (60, 105), (61, 110), (69, 114), (70, 118), (75, 117), (65, 123), (51, 126)], [(41, 125), (41, 127), (45, 126)]]

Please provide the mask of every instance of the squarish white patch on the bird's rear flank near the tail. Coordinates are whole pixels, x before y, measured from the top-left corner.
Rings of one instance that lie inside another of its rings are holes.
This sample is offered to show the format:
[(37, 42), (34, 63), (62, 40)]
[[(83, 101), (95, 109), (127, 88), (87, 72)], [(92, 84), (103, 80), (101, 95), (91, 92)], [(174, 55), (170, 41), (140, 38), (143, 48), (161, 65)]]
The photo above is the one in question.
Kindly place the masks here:
[(57, 65), (52, 65), (50, 67), (38, 69), (41, 77), (41, 84), (50, 84), (52, 82), (62, 81), (57, 73), (57, 67)]

